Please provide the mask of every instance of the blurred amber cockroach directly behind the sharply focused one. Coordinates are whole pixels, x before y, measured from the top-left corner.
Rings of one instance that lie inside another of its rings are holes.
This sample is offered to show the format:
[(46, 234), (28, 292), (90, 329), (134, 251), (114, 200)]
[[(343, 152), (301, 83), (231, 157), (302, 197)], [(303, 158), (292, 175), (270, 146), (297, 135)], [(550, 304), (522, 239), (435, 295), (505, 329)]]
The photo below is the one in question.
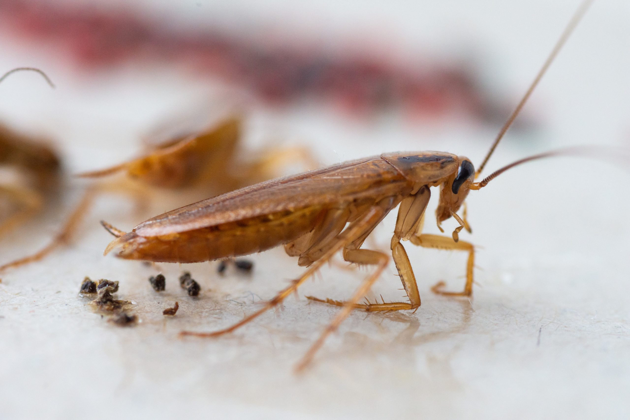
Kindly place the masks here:
[[(294, 160), (304, 162), (309, 169), (317, 167), (309, 152), (301, 147), (268, 148), (255, 160), (246, 161), (238, 153), (241, 140), (241, 117), (238, 113), (217, 118), (207, 109), (185, 121), (168, 124), (147, 140), (146, 155), (108, 169), (85, 172), (83, 178), (113, 177), (107, 182), (91, 185), (60, 232), (49, 245), (33, 255), (5, 263), (0, 272), (41, 260), (58, 246), (68, 243), (84, 215), (101, 192), (124, 192), (144, 207), (151, 195), (165, 190), (192, 194), (222, 194), (271, 179), (278, 167)], [(199, 198), (197, 198), (199, 199)], [(181, 197), (180, 197), (180, 201)], [(188, 201), (190, 202), (190, 201)]]

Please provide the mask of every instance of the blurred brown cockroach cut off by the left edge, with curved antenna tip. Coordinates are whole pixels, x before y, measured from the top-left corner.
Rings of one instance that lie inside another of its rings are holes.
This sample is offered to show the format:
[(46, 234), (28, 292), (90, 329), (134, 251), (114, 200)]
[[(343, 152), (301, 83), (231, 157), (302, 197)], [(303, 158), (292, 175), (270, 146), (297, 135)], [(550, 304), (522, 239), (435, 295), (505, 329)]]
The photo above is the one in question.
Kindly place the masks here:
[[(0, 77), (2, 82), (14, 72), (38, 72), (18, 67)], [(43, 139), (31, 138), (0, 124), (0, 235), (37, 214), (48, 196), (54, 194), (60, 178), (60, 160)]]

